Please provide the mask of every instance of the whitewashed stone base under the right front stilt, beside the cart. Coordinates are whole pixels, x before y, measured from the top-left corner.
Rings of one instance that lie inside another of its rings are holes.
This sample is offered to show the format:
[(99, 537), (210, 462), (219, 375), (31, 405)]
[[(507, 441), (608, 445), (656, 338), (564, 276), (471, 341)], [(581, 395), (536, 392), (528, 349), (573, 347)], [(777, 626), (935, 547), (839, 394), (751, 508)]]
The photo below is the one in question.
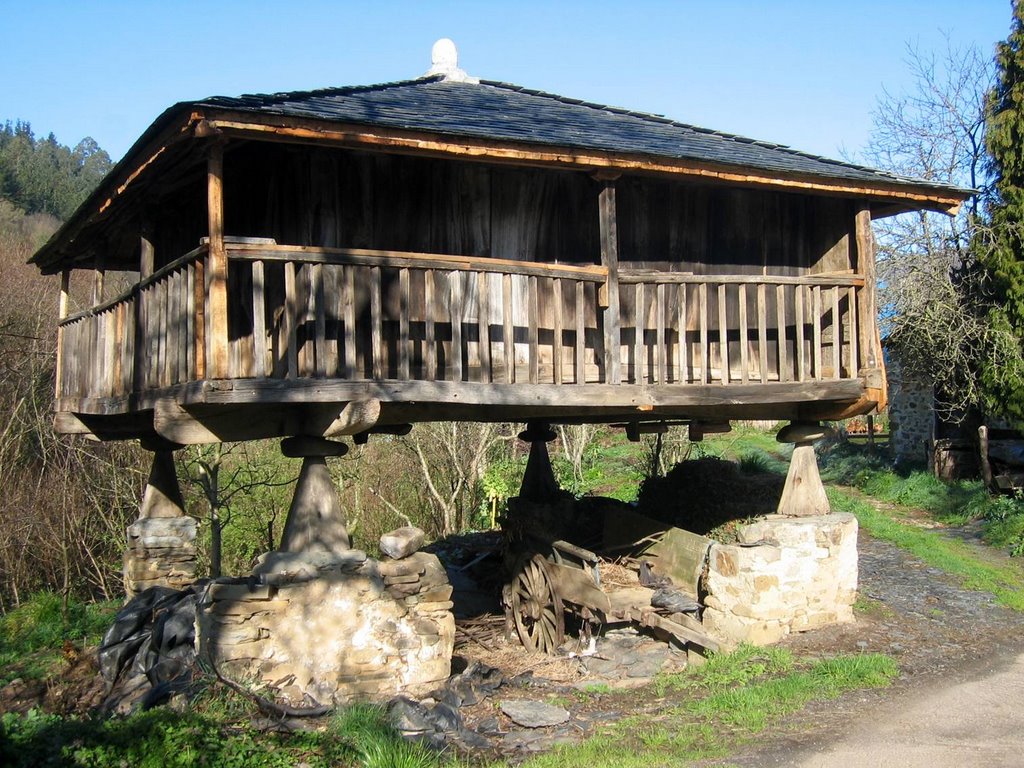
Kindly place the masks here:
[(853, 621), (857, 520), (772, 515), (709, 551), (703, 625), (726, 644), (766, 645)]

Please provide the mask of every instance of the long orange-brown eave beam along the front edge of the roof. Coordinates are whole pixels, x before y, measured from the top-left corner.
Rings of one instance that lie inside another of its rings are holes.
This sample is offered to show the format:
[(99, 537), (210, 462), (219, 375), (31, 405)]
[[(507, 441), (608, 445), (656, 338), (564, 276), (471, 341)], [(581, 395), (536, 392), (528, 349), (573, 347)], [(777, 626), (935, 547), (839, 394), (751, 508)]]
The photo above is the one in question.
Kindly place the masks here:
[(812, 191), (911, 203), (911, 208), (926, 208), (949, 214), (954, 214), (967, 197), (943, 195), (939, 191), (929, 194), (923, 191), (921, 187), (914, 189), (884, 182), (863, 184), (842, 179), (827, 180), (819, 176), (737, 169), (735, 166), (701, 161), (652, 158), (641, 154), (539, 144), (510, 144), (482, 138), (274, 115), (260, 115), (259, 122), (254, 122), (252, 116), (246, 113), (208, 112), (203, 124), (208, 129), (215, 129), (226, 136), (299, 143), (330, 143), (364, 150), (457, 157), (464, 160), (547, 168), (556, 166), (591, 173), (611, 170), (620, 173), (656, 174), (676, 178), (685, 176), (787, 191)]

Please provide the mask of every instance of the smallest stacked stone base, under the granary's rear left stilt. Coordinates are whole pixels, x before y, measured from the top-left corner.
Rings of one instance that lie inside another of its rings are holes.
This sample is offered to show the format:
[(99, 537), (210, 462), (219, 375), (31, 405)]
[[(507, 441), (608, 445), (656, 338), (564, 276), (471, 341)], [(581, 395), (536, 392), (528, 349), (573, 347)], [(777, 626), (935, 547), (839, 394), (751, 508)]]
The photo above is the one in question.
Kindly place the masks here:
[(125, 593), (150, 587), (184, 589), (196, 581), (196, 529), (191, 517), (144, 517), (128, 526)]

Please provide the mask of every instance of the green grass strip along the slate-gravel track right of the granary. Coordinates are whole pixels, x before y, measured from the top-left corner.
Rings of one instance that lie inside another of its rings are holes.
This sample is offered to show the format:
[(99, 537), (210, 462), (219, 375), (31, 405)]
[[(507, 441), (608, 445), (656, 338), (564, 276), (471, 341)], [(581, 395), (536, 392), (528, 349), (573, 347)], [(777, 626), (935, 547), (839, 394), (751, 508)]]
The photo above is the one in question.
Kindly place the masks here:
[(1015, 562), (979, 561), (970, 545), (901, 523), (867, 502), (840, 490), (829, 489), (828, 499), (833, 510), (853, 513), (874, 538), (895, 544), (929, 565), (959, 577), (967, 589), (988, 592), (1002, 605), (1024, 611), (1024, 572)]

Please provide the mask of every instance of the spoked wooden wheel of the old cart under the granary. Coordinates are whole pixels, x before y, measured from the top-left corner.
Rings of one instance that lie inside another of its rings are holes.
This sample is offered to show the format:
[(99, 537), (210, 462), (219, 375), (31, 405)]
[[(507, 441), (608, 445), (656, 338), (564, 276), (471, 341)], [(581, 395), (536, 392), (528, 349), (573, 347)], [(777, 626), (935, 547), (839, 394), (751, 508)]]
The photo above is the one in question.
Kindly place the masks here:
[(509, 610), (526, 650), (553, 653), (565, 639), (562, 600), (541, 555), (519, 561), (509, 585)]

